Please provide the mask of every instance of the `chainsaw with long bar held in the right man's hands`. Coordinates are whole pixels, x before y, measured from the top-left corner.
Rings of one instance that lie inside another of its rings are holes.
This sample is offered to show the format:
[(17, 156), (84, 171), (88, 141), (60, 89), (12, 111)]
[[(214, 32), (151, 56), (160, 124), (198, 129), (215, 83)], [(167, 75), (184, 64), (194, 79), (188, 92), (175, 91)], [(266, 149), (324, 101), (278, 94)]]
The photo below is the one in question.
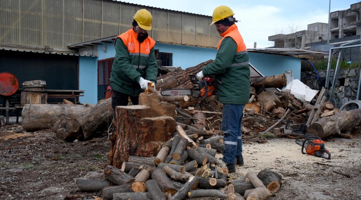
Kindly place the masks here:
[(163, 96), (192, 95), (195, 98), (205, 99), (211, 96), (216, 89), (215, 81), (211, 77), (198, 80), (197, 75), (190, 75), (190, 80), (193, 83), (192, 89), (163, 89), (160, 94)]

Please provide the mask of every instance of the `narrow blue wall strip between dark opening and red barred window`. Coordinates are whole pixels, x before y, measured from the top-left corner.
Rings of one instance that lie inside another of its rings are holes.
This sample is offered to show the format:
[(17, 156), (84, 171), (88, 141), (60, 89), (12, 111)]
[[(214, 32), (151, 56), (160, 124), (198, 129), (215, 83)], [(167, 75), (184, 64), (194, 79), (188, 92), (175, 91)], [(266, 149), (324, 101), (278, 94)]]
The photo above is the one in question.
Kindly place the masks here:
[(84, 96), (79, 97), (80, 103), (96, 104), (98, 67), (97, 57), (79, 56), (79, 89), (84, 90)]

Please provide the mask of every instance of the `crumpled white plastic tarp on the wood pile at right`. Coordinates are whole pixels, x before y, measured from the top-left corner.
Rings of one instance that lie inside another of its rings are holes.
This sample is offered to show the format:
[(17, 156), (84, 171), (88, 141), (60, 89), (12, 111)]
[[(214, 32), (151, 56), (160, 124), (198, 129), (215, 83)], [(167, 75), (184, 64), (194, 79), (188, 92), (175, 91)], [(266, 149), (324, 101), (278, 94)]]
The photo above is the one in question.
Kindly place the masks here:
[(299, 79), (289, 82), (283, 90), (291, 90), (291, 94), (303, 102), (310, 102), (318, 92), (318, 90), (311, 89)]

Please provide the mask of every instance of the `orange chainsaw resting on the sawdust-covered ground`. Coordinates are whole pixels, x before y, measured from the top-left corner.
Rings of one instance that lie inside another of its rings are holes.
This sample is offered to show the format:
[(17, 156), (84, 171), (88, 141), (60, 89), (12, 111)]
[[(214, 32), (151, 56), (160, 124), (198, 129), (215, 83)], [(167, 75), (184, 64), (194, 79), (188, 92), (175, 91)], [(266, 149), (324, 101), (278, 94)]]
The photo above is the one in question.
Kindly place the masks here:
[[(301, 152), (303, 154), (314, 155), (317, 157), (322, 157), (326, 159), (331, 158), (331, 153), (325, 148), (324, 141), (315, 135), (307, 136), (304, 140), (296, 139), (296, 144), (301, 145)], [(306, 152), (303, 149), (306, 149)], [(328, 156), (325, 156), (327, 154)]]

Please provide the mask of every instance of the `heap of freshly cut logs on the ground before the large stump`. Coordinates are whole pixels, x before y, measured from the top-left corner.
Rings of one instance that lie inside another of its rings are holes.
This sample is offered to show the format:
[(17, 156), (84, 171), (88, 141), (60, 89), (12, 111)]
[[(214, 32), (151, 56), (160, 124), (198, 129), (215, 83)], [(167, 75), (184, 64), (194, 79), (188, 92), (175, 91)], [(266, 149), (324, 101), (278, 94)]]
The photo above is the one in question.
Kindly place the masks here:
[(281, 187), (282, 176), (267, 169), (233, 179), (225, 163), (216, 158), (224, 146), (213, 144), (222, 143), (222, 136), (201, 138), (179, 125), (176, 130), (156, 156), (129, 155), (119, 168), (106, 166), (104, 179), (76, 179), (78, 187), (101, 190), (104, 199), (267, 199)]

